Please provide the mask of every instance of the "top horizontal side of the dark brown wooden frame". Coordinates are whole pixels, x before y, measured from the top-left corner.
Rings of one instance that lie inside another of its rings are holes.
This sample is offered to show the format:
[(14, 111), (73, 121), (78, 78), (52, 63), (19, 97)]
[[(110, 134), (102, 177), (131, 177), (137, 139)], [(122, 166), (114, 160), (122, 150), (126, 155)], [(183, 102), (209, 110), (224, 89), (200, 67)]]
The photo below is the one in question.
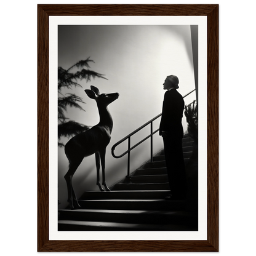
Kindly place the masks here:
[(39, 3), (48, 15), (208, 15), (218, 4), (193, 3)]

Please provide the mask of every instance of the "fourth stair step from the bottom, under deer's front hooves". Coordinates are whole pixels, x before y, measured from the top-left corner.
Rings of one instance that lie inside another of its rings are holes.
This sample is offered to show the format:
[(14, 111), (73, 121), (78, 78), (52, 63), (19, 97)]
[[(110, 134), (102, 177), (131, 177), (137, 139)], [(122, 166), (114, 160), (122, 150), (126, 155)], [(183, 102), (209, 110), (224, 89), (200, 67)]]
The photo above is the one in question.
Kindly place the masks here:
[(163, 199), (170, 190), (87, 191), (80, 199)]

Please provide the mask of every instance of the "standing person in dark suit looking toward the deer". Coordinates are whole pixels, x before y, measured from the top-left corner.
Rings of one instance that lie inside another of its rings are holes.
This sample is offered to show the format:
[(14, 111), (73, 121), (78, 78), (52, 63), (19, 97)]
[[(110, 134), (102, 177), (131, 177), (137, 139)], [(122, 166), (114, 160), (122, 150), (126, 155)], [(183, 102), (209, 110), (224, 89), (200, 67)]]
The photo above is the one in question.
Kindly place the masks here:
[(182, 151), (182, 115), (184, 100), (177, 92), (177, 76), (167, 76), (164, 81), (164, 102), (162, 104), (162, 118), (159, 127), (159, 135), (164, 141), (164, 153), (166, 156), (166, 167), (169, 178), (170, 194), (169, 199), (185, 199), (186, 197), (186, 176), (185, 164)]

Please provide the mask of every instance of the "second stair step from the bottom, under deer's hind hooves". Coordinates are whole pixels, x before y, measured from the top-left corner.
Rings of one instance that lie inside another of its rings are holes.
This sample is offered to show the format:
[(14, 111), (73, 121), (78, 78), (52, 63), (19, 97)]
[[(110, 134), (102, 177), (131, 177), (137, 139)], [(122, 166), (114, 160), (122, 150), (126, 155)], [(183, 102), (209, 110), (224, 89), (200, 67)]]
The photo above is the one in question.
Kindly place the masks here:
[(59, 220), (198, 225), (197, 215), (182, 210), (59, 210)]

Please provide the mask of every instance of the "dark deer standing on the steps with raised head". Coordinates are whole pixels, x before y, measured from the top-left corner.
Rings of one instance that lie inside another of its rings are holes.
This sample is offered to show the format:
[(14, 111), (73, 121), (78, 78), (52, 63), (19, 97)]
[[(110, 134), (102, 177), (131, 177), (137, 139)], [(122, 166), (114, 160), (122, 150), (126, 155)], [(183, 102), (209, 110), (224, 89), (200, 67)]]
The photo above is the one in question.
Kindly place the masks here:
[[(91, 90), (90, 90), (91, 89)], [(96, 101), (100, 122), (89, 130), (75, 135), (65, 145), (65, 154), (70, 162), (68, 172), (64, 178), (68, 187), (68, 202), (71, 209), (79, 209), (81, 206), (78, 203), (76, 194), (74, 193), (72, 178), (82, 160), (87, 156), (95, 154), (95, 162), (97, 169), (97, 185), (100, 191), (110, 191), (105, 180), (105, 154), (106, 146), (110, 143), (111, 132), (113, 129), (113, 119), (108, 105), (118, 99), (118, 92), (113, 94), (100, 94), (100, 91), (95, 86), (90, 86), (90, 89), (84, 90), (89, 98)], [(102, 164), (102, 185), (100, 185), (100, 162)]]

